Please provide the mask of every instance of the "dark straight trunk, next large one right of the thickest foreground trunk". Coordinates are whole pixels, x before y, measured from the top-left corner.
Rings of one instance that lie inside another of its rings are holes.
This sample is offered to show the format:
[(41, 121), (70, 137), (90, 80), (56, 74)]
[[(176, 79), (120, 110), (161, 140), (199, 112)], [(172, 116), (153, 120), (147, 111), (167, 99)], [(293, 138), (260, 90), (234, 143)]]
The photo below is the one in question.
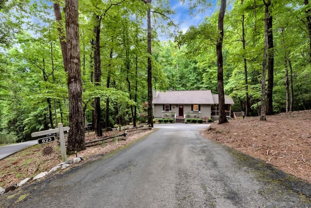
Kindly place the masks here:
[[(101, 85), (101, 52), (100, 52), (100, 27), (101, 27), (101, 17), (98, 15), (94, 16), (95, 18), (95, 26), (94, 26), (94, 34), (95, 34), (95, 41), (93, 41), (93, 49), (94, 49), (94, 82), (95, 86)], [(101, 112), (101, 99), (97, 97), (94, 99), (95, 105), (95, 132), (98, 137), (103, 136), (102, 131), (102, 112)]]

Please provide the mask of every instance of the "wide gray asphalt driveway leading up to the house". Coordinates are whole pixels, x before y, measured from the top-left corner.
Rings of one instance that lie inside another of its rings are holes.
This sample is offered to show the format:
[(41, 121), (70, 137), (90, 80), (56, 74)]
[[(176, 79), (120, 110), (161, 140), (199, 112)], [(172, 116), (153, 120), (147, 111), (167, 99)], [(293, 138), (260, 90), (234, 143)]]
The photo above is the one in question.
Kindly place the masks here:
[(28, 195), (17, 208), (311, 206), (310, 184), (203, 138), (204, 124), (157, 127), (111, 156), (6, 194)]

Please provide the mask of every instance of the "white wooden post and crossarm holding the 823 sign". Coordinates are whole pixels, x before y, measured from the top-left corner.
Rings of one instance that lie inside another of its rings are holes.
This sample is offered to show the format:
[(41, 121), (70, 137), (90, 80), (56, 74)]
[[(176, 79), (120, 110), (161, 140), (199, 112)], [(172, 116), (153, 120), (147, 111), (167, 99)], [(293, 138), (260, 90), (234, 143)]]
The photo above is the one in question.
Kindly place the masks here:
[(62, 161), (65, 162), (67, 160), (67, 154), (66, 154), (64, 131), (68, 131), (68, 130), (69, 130), (68, 126), (63, 127), (63, 123), (58, 123), (58, 128), (34, 132), (31, 134), (31, 136), (32, 137), (39, 137), (39, 136), (44, 136), (44, 135), (48, 135), (48, 134), (59, 133), (60, 152), (62, 155)]

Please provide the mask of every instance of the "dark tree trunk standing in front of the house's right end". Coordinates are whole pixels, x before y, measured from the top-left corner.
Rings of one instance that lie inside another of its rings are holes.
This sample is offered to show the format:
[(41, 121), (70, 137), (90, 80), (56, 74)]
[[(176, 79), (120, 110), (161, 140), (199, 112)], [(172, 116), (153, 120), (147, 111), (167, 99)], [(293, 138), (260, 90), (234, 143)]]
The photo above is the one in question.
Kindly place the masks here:
[(218, 101), (219, 101), (219, 124), (227, 122), (225, 113), (225, 92), (224, 92), (224, 72), (223, 72), (223, 38), (224, 38), (224, 17), (226, 0), (221, 0), (218, 16), (218, 39), (216, 44), (217, 53), (217, 77), (218, 77)]

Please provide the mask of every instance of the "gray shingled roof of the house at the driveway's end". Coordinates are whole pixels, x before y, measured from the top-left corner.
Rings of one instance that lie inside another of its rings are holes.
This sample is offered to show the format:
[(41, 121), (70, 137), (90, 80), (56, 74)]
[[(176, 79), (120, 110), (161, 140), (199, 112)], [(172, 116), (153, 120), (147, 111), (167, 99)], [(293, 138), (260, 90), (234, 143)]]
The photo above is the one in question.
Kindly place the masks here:
[[(154, 91), (153, 95), (153, 104), (218, 104), (218, 95), (210, 90)], [(225, 104), (234, 104), (230, 97), (225, 97)]]

